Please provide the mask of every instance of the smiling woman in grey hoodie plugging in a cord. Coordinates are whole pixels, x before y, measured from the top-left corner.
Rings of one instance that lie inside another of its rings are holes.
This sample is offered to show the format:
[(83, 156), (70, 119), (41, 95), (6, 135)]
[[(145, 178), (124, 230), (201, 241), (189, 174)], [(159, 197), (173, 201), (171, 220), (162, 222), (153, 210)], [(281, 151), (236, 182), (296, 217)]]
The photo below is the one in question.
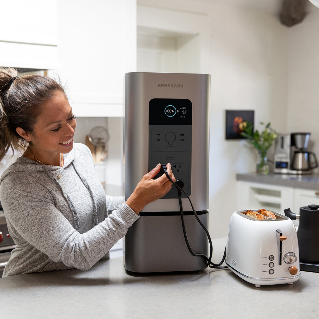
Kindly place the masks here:
[[(92, 155), (73, 142), (76, 119), (60, 84), (41, 75), (0, 69), (0, 160), (23, 152), (1, 176), (0, 196), (16, 248), (3, 277), (89, 269), (122, 238), (139, 211), (163, 197), (171, 182), (145, 174), (123, 202), (105, 196)], [(168, 173), (173, 178), (170, 164)]]

